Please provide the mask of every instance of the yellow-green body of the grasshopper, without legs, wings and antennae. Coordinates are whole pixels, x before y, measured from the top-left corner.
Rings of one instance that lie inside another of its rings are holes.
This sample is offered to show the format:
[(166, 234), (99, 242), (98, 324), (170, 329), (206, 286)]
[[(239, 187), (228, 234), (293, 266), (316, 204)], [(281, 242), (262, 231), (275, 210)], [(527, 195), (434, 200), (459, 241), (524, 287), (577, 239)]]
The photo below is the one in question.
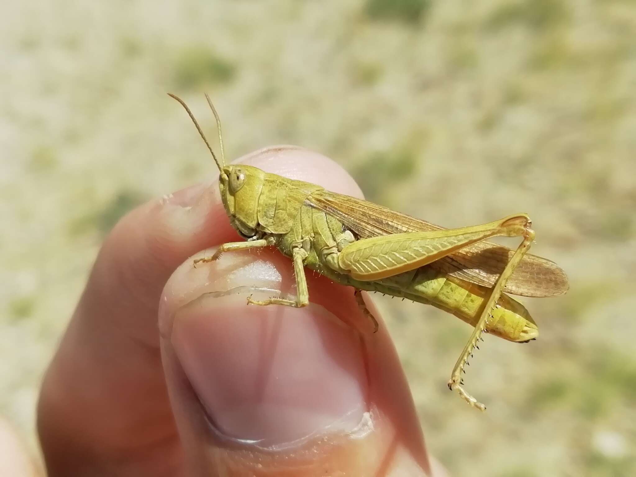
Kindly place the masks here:
[[(338, 250), (338, 240), (347, 230), (327, 212), (305, 205), (312, 193), (323, 188), (254, 167), (243, 165), (240, 169), (245, 174), (245, 185), (226, 199), (226, 207), (243, 233), (258, 231), (275, 236), (277, 248), (289, 257), (294, 245), (301, 244), (308, 252), (305, 266), (340, 284), (433, 305), (473, 326), (478, 321), (490, 289), (448, 277), (430, 266), (373, 281), (356, 280), (338, 272), (329, 265), (326, 252)], [(506, 294), (497, 301), (485, 329), (513, 342), (525, 342), (538, 335), (525, 307)]]

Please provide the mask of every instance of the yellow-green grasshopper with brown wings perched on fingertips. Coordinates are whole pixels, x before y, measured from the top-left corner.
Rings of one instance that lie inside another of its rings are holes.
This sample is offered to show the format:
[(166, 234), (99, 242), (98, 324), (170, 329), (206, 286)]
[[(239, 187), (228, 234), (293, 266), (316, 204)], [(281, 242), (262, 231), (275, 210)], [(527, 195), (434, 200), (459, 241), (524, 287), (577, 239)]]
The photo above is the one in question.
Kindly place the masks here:
[[(325, 190), (315, 184), (225, 162), (221, 121), (210, 97), (219, 135), (221, 160), (197, 120), (181, 103), (219, 168), (219, 188), (232, 226), (245, 239), (219, 246), (224, 252), (277, 247), (293, 260), (296, 300), (269, 298), (252, 305), (305, 307), (309, 292), (305, 266), (334, 282), (354, 287), (356, 301), (377, 331), (361, 290), (379, 291), (441, 308), (474, 326), (453, 367), (448, 387), (471, 406), (485, 410), (464, 389), (462, 373), (482, 333), (525, 343), (539, 334), (525, 307), (506, 293), (557, 296), (568, 288), (565, 272), (548, 259), (528, 254), (534, 231), (527, 214), (483, 225), (445, 229), (372, 202)], [(490, 237), (522, 237), (516, 250), (485, 242)], [(506, 292), (506, 293), (504, 293)]]

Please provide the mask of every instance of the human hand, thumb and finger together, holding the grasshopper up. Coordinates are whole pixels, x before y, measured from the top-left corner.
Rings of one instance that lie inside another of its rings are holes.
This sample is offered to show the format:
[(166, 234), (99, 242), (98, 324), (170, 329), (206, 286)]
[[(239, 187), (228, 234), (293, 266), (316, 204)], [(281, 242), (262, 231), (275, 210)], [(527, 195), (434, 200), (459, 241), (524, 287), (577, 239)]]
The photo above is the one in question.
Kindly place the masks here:
[[(239, 162), (360, 195), (340, 167), (305, 149)], [(308, 272), (308, 307), (247, 306), (254, 287), (287, 293), (293, 267), (269, 249), (193, 267), (193, 254), (236, 240), (216, 181), (115, 226), (43, 383), (49, 475), (430, 474), (373, 305), (375, 334), (350, 287)]]

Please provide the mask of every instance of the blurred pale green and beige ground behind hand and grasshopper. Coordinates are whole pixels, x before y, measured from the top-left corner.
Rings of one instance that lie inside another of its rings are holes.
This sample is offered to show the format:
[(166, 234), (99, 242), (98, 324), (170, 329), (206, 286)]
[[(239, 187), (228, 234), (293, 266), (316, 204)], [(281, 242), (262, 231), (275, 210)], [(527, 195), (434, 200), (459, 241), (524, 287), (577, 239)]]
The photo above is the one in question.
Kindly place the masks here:
[(471, 329), (377, 298), (431, 452), (455, 476), (636, 474), (636, 3), (3, 3), (0, 413), (36, 446), (39, 380), (100, 240), (134, 205), (299, 144), (366, 196), (444, 226), (528, 212), (570, 291), (486, 336), (471, 410), (446, 380)]

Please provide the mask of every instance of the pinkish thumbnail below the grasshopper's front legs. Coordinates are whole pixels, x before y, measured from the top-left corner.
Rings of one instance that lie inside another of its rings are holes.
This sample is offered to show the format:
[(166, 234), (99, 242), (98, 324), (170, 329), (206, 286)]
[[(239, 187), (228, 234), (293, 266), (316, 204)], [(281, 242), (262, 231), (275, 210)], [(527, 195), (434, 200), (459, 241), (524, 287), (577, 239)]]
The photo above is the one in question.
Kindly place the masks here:
[[(234, 287), (249, 286), (247, 275), (258, 274), (254, 265)], [(172, 345), (212, 430), (263, 448), (365, 432), (368, 382), (359, 334), (314, 303), (259, 307), (246, 305), (246, 297), (206, 294), (174, 317)]]

